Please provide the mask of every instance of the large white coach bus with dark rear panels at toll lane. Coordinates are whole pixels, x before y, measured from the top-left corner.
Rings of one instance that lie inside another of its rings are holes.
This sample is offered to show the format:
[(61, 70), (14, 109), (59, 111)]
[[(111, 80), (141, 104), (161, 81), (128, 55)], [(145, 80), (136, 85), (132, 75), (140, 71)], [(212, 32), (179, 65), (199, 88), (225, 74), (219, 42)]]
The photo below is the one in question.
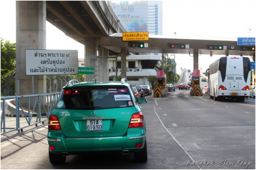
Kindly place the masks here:
[(244, 101), (250, 96), (251, 66), (247, 57), (221, 57), (207, 69), (211, 99)]

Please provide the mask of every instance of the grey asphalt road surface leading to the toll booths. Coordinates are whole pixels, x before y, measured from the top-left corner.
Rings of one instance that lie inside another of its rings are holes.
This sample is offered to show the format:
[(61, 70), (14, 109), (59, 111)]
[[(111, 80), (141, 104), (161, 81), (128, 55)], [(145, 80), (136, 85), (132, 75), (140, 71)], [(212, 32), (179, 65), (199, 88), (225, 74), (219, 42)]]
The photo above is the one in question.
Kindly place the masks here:
[(179, 89), (146, 98), (146, 163), (112, 154), (70, 155), (52, 165), (45, 125), (1, 142), (1, 169), (255, 169), (255, 99), (214, 101)]

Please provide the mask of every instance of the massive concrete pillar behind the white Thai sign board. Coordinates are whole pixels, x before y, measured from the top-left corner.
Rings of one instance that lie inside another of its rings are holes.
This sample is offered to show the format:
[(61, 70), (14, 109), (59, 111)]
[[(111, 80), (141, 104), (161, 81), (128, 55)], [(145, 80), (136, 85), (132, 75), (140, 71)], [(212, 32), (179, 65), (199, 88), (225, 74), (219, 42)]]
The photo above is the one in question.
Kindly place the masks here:
[(32, 92), (32, 75), (26, 75), (26, 49), (46, 49), (46, 1), (16, 1), (15, 94), (46, 93), (46, 75), (33, 75)]

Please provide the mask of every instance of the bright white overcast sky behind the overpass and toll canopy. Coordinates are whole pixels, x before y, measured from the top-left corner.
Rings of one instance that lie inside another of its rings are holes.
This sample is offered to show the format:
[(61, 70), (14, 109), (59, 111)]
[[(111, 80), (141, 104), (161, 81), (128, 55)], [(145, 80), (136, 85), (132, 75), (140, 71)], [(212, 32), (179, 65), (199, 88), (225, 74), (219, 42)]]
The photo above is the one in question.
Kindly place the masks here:
[[(5, 0), (0, 4), (0, 37), (16, 43), (16, 3)], [(255, 6), (256, 0), (163, 0), (163, 35), (175, 32), (175, 36), (255, 37)], [(46, 49), (78, 50), (78, 57), (84, 58), (84, 45), (47, 21)], [(207, 69), (219, 57), (199, 56), (199, 69)], [(175, 54), (175, 61), (177, 73), (181, 67), (193, 69), (193, 57), (189, 54)]]

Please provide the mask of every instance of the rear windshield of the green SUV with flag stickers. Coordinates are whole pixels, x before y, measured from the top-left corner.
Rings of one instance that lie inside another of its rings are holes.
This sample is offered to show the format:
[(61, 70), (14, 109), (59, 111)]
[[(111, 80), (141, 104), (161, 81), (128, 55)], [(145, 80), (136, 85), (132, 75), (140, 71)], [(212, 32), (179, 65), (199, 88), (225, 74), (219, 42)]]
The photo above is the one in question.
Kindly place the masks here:
[(107, 109), (134, 106), (128, 87), (62, 89), (56, 109)]

